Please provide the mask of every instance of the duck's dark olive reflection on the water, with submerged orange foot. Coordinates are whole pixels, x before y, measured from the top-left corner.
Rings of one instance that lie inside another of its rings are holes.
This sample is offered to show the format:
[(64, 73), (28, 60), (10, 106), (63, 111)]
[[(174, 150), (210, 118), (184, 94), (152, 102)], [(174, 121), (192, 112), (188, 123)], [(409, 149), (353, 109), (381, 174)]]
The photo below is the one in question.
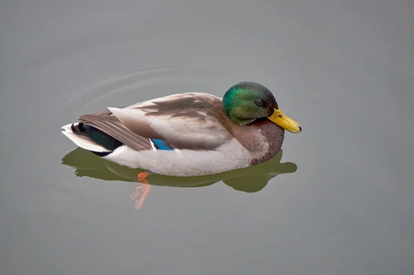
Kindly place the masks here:
[(90, 178), (102, 179), (104, 181), (127, 181), (137, 182), (139, 186), (130, 198), (135, 203), (135, 208), (139, 209), (143, 205), (146, 196), (150, 192), (151, 185), (169, 187), (203, 187), (224, 182), (233, 187), (234, 190), (242, 192), (258, 192), (262, 190), (270, 179), (278, 174), (293, 173), (297, 170), (295, 163), (281, 163), (282, 150), (277, 155), (267, 161), (252, 167), (222, 172), (208, 176), (162, 176), (153, 174), (146, 178), (148, 184), (139, 183), (137, 175), (143, 170), (130, 169), (125, 166), (117, 165), (99, 156), (78, 147), (63, 156), (62, 163), (76, 169), (77, 176), (88, 176)]

